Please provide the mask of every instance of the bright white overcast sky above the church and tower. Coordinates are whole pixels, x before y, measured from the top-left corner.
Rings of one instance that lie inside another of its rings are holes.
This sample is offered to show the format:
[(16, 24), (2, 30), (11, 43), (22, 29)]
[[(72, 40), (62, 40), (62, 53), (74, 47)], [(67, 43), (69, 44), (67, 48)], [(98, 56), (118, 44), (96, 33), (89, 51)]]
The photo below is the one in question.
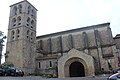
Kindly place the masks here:
[[(22, 0), (0, 1), (0, 30), (7, 35), (9, 6)], [(28, 0), (38, 9), (37, 36), (110, 22), (120, 34), (120, 0)]]

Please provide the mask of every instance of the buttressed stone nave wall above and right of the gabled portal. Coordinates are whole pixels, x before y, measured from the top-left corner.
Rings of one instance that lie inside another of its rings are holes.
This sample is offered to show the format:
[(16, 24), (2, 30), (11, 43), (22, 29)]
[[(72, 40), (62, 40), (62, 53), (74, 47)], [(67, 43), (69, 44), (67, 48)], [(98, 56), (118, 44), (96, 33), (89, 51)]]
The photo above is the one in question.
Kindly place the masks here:
[[(64, 56), (73, 48), (83, 51), (93, 57), (95, 71), (98, 72), (102, 69), (108, 71), (108, 60), (115, 62), (113, 58), (116, 50), (113, 49), (114, 42), (109, 23), (39, 36), (37, 42), (40, 41), (37, 46), (43, 49), (46, 56)], [(115, 68), (112, 62), (111, 65)]]

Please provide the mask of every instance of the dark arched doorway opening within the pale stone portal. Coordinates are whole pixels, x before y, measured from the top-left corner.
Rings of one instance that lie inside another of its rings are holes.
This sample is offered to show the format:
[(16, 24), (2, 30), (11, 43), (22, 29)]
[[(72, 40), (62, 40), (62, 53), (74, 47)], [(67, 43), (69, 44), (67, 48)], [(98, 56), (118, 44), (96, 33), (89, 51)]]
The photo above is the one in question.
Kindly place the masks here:
[(84, 66), (80, 62), (73, 62), (69, 66), (70, 77), (85, 77)]

